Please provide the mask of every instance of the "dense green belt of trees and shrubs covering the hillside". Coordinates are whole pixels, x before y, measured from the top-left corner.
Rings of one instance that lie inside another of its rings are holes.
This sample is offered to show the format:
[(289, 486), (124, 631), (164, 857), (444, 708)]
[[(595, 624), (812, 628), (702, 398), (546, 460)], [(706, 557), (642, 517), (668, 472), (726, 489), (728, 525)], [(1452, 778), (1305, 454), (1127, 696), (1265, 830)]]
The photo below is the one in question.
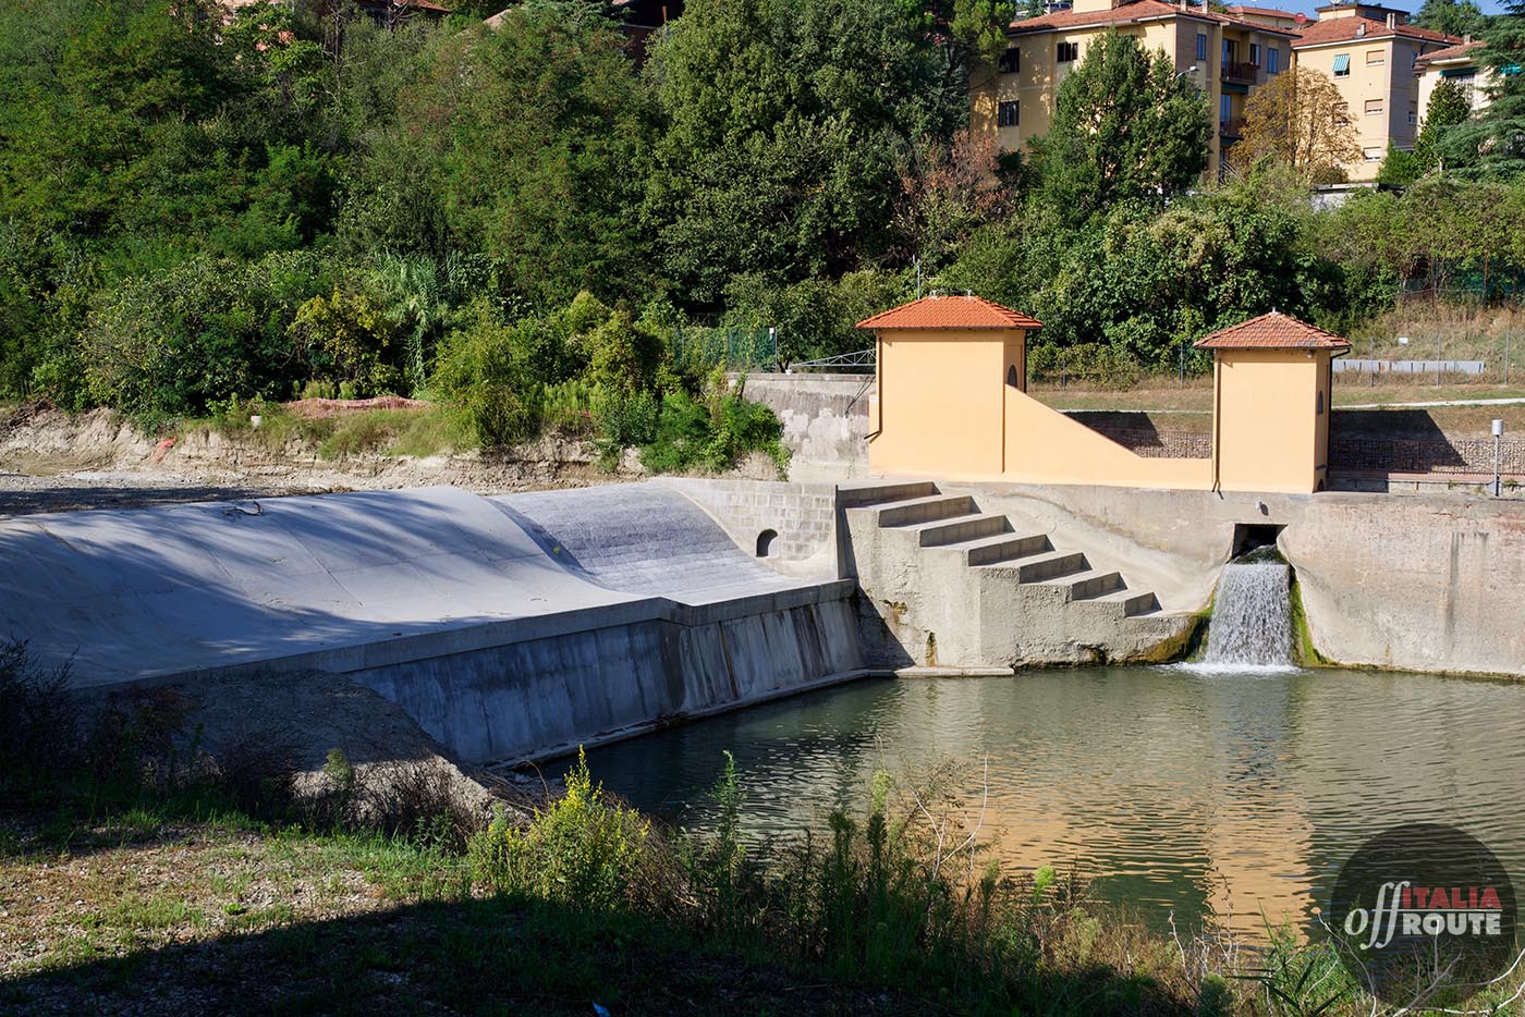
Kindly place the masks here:
[(485, 12), (0, 18), (0, 398), (171, 419), (390, 390), (483, 441), (560, 412), (647, 441), (732, 412), (694, 398), (714, 358), (676, 352), (700, 323), (795, 361), (958, 287), (1035, 313), (1035, 358), (1176, 366), (1270, 306), (1344, 328), (1405, 279), (1525, 267), (1517, 17), (1490, 24), (1487, 116), (1437, 90), (1434, 169), (1313, 212), (1353, 142), (1310, 72), (1257, 93), (1220, 186), (1205, 99), (1128, 37), (1090, 46), (1029, 159), (973, 134), (1006, 0), (692, 0), (644, 70), (605, 0)]

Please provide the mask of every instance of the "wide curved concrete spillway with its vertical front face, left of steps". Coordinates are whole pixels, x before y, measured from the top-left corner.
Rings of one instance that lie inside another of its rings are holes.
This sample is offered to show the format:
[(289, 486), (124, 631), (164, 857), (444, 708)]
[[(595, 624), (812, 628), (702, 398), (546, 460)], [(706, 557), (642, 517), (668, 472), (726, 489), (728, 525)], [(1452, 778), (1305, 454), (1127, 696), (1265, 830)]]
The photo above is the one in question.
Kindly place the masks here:
[(343, 672), (468, 761), (857, 674), (851, 593), (767, 570), (659, 485), (0, 523), (0, 636), (76, 682)]

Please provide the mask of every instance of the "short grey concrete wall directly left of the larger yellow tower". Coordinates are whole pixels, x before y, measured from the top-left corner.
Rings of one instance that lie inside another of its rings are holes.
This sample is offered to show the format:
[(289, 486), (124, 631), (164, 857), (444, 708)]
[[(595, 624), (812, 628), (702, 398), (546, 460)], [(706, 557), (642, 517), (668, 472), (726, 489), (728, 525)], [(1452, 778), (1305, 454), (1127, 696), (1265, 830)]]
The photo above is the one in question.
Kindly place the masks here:
[(790, 476), (830, 471), (857, 477), (868, 470), (868, 406), (872, 375), (752, 374), (746, 395), (778, 415), (784, 447), (795, 453)]

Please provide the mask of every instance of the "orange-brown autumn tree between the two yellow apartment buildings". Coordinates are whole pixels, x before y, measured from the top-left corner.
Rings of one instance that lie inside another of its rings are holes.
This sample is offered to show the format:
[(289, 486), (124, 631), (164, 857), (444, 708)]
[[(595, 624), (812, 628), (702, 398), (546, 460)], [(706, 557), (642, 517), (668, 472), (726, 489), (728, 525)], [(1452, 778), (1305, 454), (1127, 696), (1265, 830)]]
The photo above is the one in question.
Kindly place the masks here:
[(1244, 104), (1244, 134), (1235, 156), (1244, 165), (1273, 159), (1308, 183), (1345, 180), (1360, 159), (1356, 125), (1328, 75), (1298, 67), (1276, 75)]

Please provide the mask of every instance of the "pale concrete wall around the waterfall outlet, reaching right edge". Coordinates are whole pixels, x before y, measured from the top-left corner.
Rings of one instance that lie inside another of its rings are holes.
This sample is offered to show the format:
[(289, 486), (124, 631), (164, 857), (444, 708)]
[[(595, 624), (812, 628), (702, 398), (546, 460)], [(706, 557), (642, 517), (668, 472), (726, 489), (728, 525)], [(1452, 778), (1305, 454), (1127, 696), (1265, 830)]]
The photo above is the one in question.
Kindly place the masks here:
[(964, 486), (1019, 526), (1095, 549), (1167, 610), (1208, 602), (1235, 523), (1284, 526), (1279, 546), (1296, 569), (1315, 645), (1330, 659), (1525, 677), (1522, 502)]

